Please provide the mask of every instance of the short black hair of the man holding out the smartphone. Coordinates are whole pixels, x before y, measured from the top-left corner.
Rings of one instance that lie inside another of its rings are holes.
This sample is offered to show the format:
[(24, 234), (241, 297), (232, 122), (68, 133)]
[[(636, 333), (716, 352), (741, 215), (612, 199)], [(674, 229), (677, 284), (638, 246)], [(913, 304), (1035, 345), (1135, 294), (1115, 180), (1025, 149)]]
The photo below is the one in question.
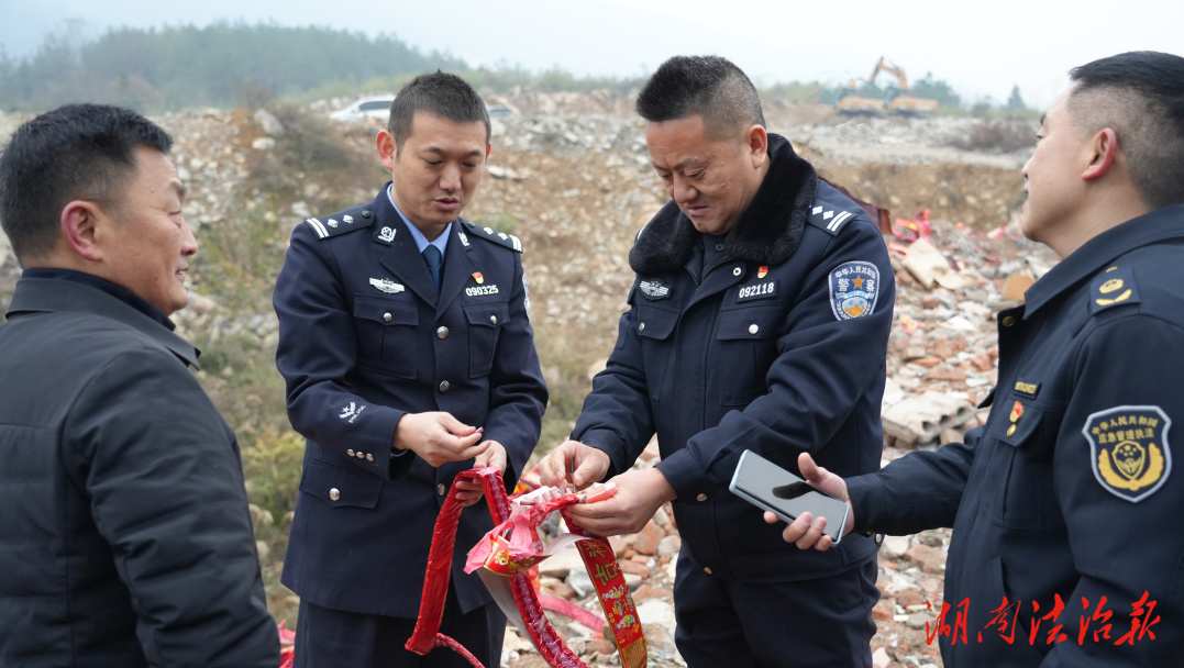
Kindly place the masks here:
[(1069, 71), (1068, 109), (1085, 132), (1111, 128), (1144, 203), (1184, 202), (1184, 58), (1131, 51)]

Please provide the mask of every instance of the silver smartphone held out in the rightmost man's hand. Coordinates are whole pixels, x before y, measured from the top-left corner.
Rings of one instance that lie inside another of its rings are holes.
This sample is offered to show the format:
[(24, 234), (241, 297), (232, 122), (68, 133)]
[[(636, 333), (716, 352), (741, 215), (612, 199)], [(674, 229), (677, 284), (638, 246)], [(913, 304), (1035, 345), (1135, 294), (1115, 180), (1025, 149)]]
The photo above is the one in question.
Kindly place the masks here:
[(810, 485), (752, 450), (740, 455), (728, 489), (749, 504), (772, 511), (785, 521), (809, 512), (826, 518), (823, 533), (838, 545), (847, 526), (847, 504)]

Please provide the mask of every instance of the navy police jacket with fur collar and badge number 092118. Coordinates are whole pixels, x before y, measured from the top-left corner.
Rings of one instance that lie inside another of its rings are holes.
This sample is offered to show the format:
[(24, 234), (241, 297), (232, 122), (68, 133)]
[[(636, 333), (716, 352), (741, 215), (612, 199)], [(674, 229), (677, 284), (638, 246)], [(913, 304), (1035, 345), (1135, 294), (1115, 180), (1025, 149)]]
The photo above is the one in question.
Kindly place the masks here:
[(727, 487), (745, 449), (793, 472), (802, 452), (852, 475), (880, 468), (895, 299), (863, 209), (784, 137), (770, 135), (770, 155), (712, 266), (701, 268), (704, 238), (675, 202), (643, 228), (629, 255), (631, 307), (572, 433), (607, 453), (614, 475), (656, 432), (683, 545), (709, 572), (745, 582), (824, 577), (874, 558), (861, 536), (798, 550)]

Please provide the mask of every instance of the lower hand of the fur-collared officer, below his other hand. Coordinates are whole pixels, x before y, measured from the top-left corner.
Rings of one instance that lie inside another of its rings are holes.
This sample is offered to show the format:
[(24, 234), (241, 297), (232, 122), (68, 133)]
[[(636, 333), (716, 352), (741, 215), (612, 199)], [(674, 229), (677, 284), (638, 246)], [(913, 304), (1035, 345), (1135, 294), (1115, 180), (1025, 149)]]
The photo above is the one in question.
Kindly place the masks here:
[(593, 536), (637, 533), (662, 504), (673, 500), (674, 487), (656, 468), (630, 471), (610, 480), (617, 485), (611, 499), (567, 507), (571, 520)]

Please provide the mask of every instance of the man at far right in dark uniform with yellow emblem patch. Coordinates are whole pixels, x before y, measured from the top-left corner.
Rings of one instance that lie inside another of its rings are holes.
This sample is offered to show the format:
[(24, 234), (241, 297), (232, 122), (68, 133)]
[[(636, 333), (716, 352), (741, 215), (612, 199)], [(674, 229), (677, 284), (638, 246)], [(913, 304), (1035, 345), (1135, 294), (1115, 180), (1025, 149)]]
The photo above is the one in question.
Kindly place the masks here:
[[(1063, 260), (998, 314), (986, 424), (845, 485), (799, 462), (857, 531), (953, 526), (947, 668), (1184, 661), (1184, 58), (1070, 77), (1024, 167), (1024, 234)], [(785, 539), (825, 549), (811, 521)]]

